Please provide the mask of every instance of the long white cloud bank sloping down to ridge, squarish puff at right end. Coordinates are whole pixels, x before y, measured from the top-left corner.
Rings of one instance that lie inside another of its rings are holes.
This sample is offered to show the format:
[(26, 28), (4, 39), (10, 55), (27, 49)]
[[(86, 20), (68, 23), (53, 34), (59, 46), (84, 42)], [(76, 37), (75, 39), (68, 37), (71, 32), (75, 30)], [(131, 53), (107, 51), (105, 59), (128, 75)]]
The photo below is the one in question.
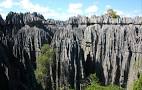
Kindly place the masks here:
[[(19, 3), (19, 6), (20, 8), (28, 12), (38, 12), (42, 14), (46, 19), (52, 18), (52, 19), (57, 19), (57, 20), (67, 20), (69, 17), (77, 14), (77, 12), (78, 14), (81, 13), (80, 8), (82, 7), (81, 4), (69, 4), (68, 11), (63, 12), (61, 8), (57, 8), (57, 10), (53, 10), (47, 6), (41, 6), (39, 4), (34, 4), (30, 0), (21, 0)], [(73, 11), (71, 7), (73, 7), (75, 11)]]

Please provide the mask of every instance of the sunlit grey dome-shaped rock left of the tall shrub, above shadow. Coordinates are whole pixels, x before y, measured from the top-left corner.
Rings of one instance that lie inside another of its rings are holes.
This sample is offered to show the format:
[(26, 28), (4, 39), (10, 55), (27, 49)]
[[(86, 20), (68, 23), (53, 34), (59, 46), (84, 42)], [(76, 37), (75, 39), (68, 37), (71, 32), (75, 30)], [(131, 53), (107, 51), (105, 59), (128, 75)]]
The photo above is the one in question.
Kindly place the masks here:
[(50, 39), (50, 34), (43, 29), (25, 25), (14, 37), (13, 54), (24, 63), (23, 53), (27, 52), (29, 60), (36, 65), (36, 57), (40, 53), (42, 44), (49, 43)]

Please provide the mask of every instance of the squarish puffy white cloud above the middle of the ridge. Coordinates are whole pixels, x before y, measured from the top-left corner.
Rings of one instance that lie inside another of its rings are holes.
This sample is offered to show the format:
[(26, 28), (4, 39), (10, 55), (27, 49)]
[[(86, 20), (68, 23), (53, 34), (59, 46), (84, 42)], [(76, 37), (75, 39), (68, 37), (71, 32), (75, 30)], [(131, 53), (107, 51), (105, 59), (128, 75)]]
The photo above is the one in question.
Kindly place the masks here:
[(73, 15), (82, 14), (82, 4), (81, 3), (71, 3), (69, 4), (68, 12)]

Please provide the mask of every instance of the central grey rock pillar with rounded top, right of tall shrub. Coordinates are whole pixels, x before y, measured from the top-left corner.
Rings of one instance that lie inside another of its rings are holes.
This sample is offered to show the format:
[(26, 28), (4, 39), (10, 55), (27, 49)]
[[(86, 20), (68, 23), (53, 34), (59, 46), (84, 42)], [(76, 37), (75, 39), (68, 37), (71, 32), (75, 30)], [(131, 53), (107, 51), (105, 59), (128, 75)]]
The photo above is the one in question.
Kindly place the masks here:
[(70, 26), (61, 28), (55, 33), (52, 46), (55, 47), (56, 52), (56, 90), (58, 90), (57, 87), (62, 86), (65, 86), (67, 90), (69, 86), (80, 89), (85, 61), (76, 32)]

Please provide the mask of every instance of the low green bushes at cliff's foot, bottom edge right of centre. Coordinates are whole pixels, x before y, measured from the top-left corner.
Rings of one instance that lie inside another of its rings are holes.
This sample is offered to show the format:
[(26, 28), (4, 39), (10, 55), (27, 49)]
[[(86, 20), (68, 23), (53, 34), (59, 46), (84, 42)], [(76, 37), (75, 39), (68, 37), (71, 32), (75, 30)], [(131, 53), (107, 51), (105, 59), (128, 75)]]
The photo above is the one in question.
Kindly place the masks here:
[(96, 77), (96, 74), (90, 75), (91, 79), (91, 85), (88, 85), (85, 90), (124, 90), (121, 87), (117, 85), (107, 85), (107, 86), (102, 86), (99, 83), (98, 78)]

